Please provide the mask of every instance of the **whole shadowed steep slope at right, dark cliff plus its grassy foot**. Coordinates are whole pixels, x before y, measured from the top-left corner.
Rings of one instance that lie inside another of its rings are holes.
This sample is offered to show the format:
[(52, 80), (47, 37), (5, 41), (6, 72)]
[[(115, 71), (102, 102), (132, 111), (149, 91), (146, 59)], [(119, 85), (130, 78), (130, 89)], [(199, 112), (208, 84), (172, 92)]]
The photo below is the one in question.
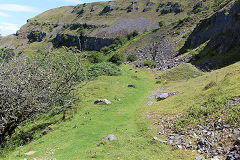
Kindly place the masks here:
[[(240, 60), (240, 3), (230, 1), (202, 20), (189, 36), (181, 53), (196, 50), (192, 62), (203, 70), (221, 68)], [(204, 44), (200, 50), (197, 49)]]

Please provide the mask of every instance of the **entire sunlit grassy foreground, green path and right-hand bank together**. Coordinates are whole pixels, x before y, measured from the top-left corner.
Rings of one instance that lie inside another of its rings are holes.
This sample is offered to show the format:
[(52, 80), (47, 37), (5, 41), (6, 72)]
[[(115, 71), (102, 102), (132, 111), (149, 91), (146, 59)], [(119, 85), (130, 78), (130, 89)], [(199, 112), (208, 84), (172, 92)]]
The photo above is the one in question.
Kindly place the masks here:
[[(194, 159), (201, 152), (192, 152), (194, 148), (186, 148), (181, 143), (169, 145), (165, 139), (168, 141), (170, 135), (177, 137), (197, 124), (204, 126), (207, 119), (211, 123), (222, 119), (224, 125), (239, 127), (238, 102), (236, 106), (226, 106), (226, 102), (240, 94), (239, 63), (211, 73), (202, 73), (190, 64), (165, 72), (143, 69), (135, 72), (127, 66), (121, 68), (121, 76), (99, 77), (77, 90), (79, 100), (74, 103), (75, 110), (67, 114), (66, 121), (59, 120), (61, 115), (45, 116), (21, 128), (26, 134), (39, 126), (49, 125), (53, 130), (40, 137), (45, 128), (38, 128), (33, 132), (32, 142), (12, 146), (3, 152), (4, 159)], [(128, 87), (129, 84), (134, 84), (135, 88)], [(164, 89), (160, 92), (179, 93), (161, 101), (149, 99), (161, 88)], [(99, 98), (107, 98), (112, 104), (94, 104)], [(226, 110), (226, 107), (229, 108)], [(168, 125), (162, 128), (167, 122), (173, 125), (172, 134)], [(165, 134), (159, 134), (162, 131)], [(184, 135), (189, 138), (191, 134), (186, 133)], [(117, 140), (104, 140), (109, 134), (114, 134)], [(213, 150), (223, 142), (223, 147), (231, 147), (237, 135), (237, 131), (231, 138), (216, 135), (222, 140), (212, 141)], [(194, 147), (200, 139), (190, 136), (191, 145)], [(29, 151), (36, 153), (25, 155)], [(212, 157), (211, 153), (202, 156)]]

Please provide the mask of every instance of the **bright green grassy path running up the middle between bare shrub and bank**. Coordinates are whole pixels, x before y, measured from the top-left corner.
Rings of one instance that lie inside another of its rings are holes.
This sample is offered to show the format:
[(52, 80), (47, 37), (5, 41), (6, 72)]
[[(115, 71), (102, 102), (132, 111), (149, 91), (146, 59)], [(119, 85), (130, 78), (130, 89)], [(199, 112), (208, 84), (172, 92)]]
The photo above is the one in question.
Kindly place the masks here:
[[(128, 84), (137, 87), (128, 88)], [(79, 90), (82, 101), (76, 104), (79, 110), (73, 119), (18, 148), (8, 159), (191, 159), (185, 152), (172, 152), (169, 146), (152, 140), (142, 108), (155, 87), (149, 71), (135, 73), (124, 67), (120, 77), (100, 77)], [(108, 98), (113, 103), (93, 105), (97, 98)], [(109, 134), (118, 141), (103, 140)], [(30, 150), (37, 152), (25, 156)]]

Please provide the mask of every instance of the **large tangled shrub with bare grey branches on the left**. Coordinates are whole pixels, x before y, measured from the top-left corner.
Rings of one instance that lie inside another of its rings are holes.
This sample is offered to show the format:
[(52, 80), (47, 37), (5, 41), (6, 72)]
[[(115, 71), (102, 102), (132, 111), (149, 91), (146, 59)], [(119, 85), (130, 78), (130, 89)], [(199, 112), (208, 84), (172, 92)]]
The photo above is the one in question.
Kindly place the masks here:
[(80, 58), (72, 52), (14, 57), (0, 64), (0, 145), (16, 128), (43, 113), (61, 113), (74, 100), (82, 77)]

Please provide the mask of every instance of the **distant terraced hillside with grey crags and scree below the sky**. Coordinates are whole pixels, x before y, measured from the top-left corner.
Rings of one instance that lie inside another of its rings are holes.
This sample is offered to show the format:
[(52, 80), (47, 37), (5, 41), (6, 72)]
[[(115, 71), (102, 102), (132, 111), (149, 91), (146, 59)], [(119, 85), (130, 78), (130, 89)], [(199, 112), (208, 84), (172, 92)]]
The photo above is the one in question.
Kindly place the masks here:
[[(83, 49), (99, 50), (118, 35), (126, 36), (134, 30), (142, 33), (156, 29), (160, 21), (172, 24), (194, 14), (196, 8), (210, 11), (208, 6), (211, 5), (210, 1), (199, 5), (194, 0), (119, 0), (60, 7), (29, 19), (16, 35), (5, 37), (0, 46), (19, 50), (41, 42), (45, 42), (47, 48), (79, 46), (80, 39)], [(92, 47), (93, 43), (95, 48)]]

